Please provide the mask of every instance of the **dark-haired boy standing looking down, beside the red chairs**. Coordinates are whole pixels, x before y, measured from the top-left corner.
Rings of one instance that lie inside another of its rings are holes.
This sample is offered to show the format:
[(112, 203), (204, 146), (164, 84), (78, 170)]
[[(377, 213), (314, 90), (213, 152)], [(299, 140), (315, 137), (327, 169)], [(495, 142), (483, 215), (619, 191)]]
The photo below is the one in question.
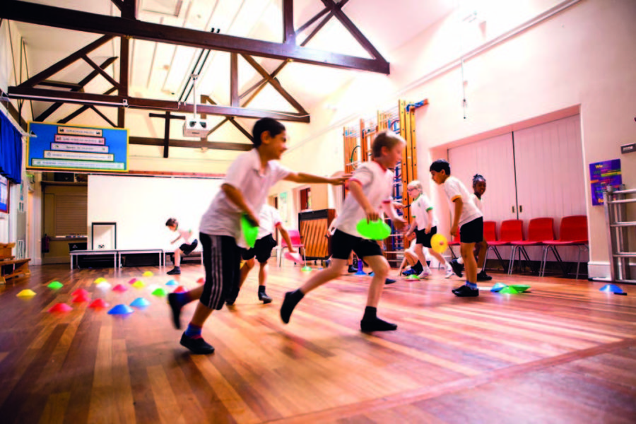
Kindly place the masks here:
[(473, 256), (475, 243), (483, 240), (483, 214), (475, 206), (471, 194), (464, 184), (450, 175), (450, 165), (446, 160), (438, 159), (430, 167), (430, 175), (436, 184), (444, 187), (453, 221), (451, 236), (459, 231), (461, 258), (466, 266), (466, 284), (454, 288), (452, 292), (461, 298), (473, 298), (479, 295), (477, 288), (477, 263)]

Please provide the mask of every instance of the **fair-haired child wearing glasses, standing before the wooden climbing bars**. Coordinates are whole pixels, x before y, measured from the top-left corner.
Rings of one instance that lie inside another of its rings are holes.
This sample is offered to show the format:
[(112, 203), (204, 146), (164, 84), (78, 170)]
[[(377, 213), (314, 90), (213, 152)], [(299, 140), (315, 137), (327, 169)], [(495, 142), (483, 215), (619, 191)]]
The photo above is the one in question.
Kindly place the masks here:
[[(432, 257), (437, 259), (440, 264), (446, 268), (446, 278), (453, 275), (453, 269), (448, 264), (446, 259), (441, 254), (431, 249), (430, 240), (433, 235), (437, 234), (437, 217), (433, 212), (433, 207), (428, 196), (423, 192), (422, 183), (417, 179), (411, 181), (406, 186), (409, 196), (415, 199), (411, 203), (411, 216), (413, 216), (413, 223), (411, 228), (408, 229), (406, 235), (411, 235), (412, 232), (416, 233), (416, 246), (415, 253), (420, 260), (420, 263), (424, 266), (426, 264), (426, 258), (424, 256), (424, 247), (429, 249), (429, 253)], [(431, 275), (430, 268), (425, 266), (420, 278), (427, 278)]]

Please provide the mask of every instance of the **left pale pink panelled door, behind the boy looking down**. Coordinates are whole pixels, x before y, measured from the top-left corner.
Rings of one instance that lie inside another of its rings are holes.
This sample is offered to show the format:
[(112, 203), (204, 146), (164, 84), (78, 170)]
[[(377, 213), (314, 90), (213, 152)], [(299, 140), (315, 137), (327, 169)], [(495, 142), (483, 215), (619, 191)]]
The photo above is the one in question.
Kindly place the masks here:
[(448, 151), (451, 174), (473, 189), (473, 175), (486, 179), (482, 198), (483, 220), (497, 221), (497, 236), (502, 220), (517, 219), (514, 188), (512, 134), (477, 141)]

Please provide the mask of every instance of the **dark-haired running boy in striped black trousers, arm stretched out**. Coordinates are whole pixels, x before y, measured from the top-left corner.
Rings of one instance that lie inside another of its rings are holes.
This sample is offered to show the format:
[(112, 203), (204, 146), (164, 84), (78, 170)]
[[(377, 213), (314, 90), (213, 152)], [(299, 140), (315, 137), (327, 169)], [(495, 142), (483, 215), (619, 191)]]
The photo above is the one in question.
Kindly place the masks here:
[(276, 119), (263, 118), (254, 124), (251, 151), (239, 155), (225, 175), (221, 189), (214, 197), (199, 225), (203, 246), (206, 282), (187, 293), (170, 293), (168, 303), (172, 322), (181, 328), (181, 310), (194, 300), (196, 310), (181, 344), (192, 353), (213, 353), (214, 348), (201, 337), (201, 329), (214, 310), (220, 310), (239, 283), (240, 247), (247, 247), (241, 231), (245, 214), (259, 225), (259, 212), (269, 189), (281, 179), (300, 183), (342, 184), (345, 177), (325, 178), (292, 172), (278, 160), (287, 150), (285, 126)]

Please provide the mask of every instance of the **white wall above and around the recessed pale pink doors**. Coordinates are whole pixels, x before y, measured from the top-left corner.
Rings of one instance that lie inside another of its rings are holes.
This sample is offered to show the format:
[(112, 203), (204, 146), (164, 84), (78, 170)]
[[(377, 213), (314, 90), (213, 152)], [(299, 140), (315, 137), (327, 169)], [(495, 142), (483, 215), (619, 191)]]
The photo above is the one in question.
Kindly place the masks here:
[[(343, 126), (360, 117), (374, 117), (370, 107), (387, 110), (399, 98), (428, 98), (430, 105), (416, 112), (418, 176), (425, 189), (435, 191), (428, 178), (432, 156), (443, 157), (449, 146), (478, 134), (505, 126), (513, 129), (519, 122), (575, 107), (582, 120), (580, 172), (587, 186), (591, 276), (604, 275), (605, 220), (603, 209), (591, 207), (589, 201), (587, 164), (620, 158), (623, 182), (636, 187), (636, 154), (620, 155), (620, 145), (633, 142), (636, 133), (636, 1), (491, 3), (500, 7), (481, 25), (465, 28), (456, 11), (387, 54), (388, 81), (365, 75), (331, 95), (312, 111), (312, 124), (302, 141), (283, 156), (283, 164), (302, 163), (303, 170), (323, 174), (341, 169)], [(555, 6), (570, 3), (543, 17)], [(464, 64), (468, 104), (464, 119), (459, 58), (466, 52), (474, 54)], [(338, 105), (342, 112), (327, 109), (327, 104)], [(441, 218), (447, 225), (447, 218)], [(596, 269), (596, 264), (601, 266)]]

